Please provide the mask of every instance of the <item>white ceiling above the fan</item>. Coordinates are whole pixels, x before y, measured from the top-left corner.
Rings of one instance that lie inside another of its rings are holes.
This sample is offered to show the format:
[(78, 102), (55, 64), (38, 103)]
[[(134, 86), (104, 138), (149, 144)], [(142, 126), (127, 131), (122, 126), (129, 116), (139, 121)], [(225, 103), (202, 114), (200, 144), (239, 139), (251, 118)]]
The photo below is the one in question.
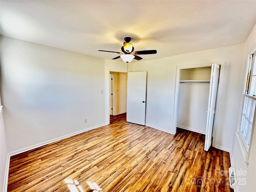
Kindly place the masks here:
[(256, 23), (253, 1), (1, 0), (1, 34), (111, 59), (124, 37), (143, 60), (240, 44)]

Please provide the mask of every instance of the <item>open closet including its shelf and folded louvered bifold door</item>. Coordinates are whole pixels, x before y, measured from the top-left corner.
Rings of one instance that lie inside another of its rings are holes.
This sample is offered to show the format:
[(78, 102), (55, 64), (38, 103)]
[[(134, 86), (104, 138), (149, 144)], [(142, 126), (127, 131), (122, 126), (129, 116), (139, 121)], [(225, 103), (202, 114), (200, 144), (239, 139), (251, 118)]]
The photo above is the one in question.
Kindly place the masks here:
[[(204, 150), (212, 145), (220, 63), (211, 67), (177, 67), (176, 126), (205, 134)], [(220, 99), (220, 96), (218, 96)]]

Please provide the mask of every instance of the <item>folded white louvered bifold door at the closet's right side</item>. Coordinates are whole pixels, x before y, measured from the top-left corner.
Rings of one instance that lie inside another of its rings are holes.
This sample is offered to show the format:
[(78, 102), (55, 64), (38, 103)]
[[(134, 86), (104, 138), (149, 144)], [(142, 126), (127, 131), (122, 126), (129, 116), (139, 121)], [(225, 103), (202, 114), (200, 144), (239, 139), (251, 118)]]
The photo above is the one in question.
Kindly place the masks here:
[(212, 145), (212, 133), (214, 126), (214, 115), (216, 107), (216, 98), (218, 90), (220, 66), (218, 64), (212, 64), (211, 78), (210, 78), (210, 91), (209, 91), (209, 102), (207, 110), (206, 120), (206, 134), (204, 142), (204, 150), (208, 151)]

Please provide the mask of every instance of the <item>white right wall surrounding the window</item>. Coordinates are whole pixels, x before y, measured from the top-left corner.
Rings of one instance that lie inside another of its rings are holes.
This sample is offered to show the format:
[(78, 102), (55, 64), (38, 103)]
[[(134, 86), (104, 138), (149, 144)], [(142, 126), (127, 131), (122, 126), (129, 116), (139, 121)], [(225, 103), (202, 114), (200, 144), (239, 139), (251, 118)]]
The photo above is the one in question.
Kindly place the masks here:
[[(238, 115), (238, 121), (236, 120), (236, 126), (234, 127), (234, 132), (236, 129), (239, 130), (240, 124), (241, 124), (241, 114), (242, 114), (242, 105), (243, 105), (243, 90), (244, 90), (244, 82), (246, 77), (246, 67), (248, 63), (248, 57), (252, 53), (253, 50), (256, 48), (256, 25), (254, 26), (250, 36), (246, 40), (245, 46), (244, 46), (244, 55), (243, 55), (243, 61), (240, 67), (241, 73), (240, 73), (240, 82), (239, 84), (239, 90), (238, 90), (238, 103), (240, 106), (239, 115)], [(244, 162), (243, 154), (241, 151), (240, 144), (238, 142), (238, 138), (236, 134), (234, 134), (234, 144), (232, 146), (231, 150), (231, 156), (232, 156), (232, 163), (234, 164), (236, 170), (243, 170), (246, 172), (246, 175), (238, 176), (239, 180), (244, 178), (246, 180), (246, 185), (239, 185), (237, 186), (238, 192), (255, 192), (256, 191), (256, 124), (254, 123), (254, 132), (251, 136), (252, 144), (251, 144), (251, 152), (250, 152), (250, 158), (249, 158), (249, 165), (246, 165), (246, 162)]]

